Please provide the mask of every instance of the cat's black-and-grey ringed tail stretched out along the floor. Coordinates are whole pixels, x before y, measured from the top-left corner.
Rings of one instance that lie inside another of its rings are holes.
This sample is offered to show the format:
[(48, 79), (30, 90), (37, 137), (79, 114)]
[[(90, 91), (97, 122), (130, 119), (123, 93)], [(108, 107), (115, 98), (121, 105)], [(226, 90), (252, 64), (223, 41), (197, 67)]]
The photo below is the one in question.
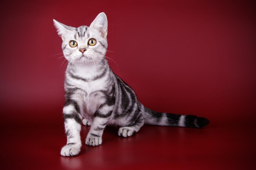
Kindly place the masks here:
[(209, 124), (209, 120), (204, 117), (194, 115), (177, 115), (173, 113), (159, 113), (141, 104), (141, 111), (144, 113), (145, 124), (159, 126), (180, 126), (190, 128), (203, 128)]

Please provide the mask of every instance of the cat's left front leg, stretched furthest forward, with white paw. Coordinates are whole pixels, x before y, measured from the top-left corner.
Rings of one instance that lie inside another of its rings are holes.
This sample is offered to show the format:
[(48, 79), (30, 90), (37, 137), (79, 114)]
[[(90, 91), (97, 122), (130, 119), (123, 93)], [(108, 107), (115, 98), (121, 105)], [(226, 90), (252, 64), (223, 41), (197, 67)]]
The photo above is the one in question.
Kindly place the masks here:
[(65, 132), (67, 135), (67, 145), (61, 149), (64, 157), (78, 155), (81, 149), (81, 115), (79, 106), (75, 101), (68, 101), (63, 108)]

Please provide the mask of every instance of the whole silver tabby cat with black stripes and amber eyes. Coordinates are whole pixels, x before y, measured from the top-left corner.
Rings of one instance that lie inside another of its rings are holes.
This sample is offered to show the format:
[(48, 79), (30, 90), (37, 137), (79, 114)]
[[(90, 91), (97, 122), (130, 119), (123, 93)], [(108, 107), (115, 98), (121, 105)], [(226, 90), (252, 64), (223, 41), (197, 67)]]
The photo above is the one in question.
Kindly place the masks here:
[(54, 20), (68, 61), (65, 72), (63, 117), (67, 144), (62, 156), (75, 156), (81, 150), (81, 122), (91, 126), (85, 144), (102, 144), (106, 125), (120, 127), (118, 135), (130, 137), (144, 124), (202, 128), (204, 117), (159, 113), (143, 106), (135, 92), (111, 70), (105, 54), (108, 47), (108, 20), (99, 13), (90, 26), (77, 28)]

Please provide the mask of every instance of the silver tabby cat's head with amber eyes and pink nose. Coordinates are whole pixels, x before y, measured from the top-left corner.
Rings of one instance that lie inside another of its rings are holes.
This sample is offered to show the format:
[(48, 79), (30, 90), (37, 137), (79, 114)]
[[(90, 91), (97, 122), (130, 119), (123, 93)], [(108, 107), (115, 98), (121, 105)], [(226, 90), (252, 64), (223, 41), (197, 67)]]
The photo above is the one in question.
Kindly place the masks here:
[(102, 60), (108, 47), (108, 20), (105, 13), (99, 13), (90, 26), (77, 28), (53, 21), (63, 40), (63, 54), (69, 62), (90, 63)]

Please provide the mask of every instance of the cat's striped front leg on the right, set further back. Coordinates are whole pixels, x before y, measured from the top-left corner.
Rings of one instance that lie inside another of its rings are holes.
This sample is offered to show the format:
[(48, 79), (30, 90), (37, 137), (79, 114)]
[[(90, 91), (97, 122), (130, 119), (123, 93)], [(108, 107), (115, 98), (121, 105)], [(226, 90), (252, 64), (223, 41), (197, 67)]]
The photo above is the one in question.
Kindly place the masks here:
[(114, 106), (108, 106), (108, 104), (99, 106), (99, 109), (94, 113), (92, 126), (86, 137), (85, 144), (89, 146), (98, 146), (102, 144), (103, 130), (112, 115), (113, 107)]

